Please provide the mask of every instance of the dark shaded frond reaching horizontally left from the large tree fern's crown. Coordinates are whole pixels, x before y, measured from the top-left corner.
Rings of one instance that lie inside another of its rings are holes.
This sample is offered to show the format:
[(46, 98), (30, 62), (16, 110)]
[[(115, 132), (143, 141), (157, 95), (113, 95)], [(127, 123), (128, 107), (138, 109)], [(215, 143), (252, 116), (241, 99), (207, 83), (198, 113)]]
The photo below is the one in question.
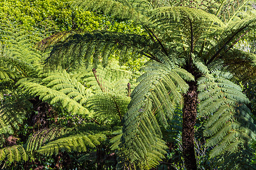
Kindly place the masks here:
[[(141, 50), (147, 53), (148, 43), (148, 37), (141, 35), (108, 31), (85, 32), (58, 42), (46, 62), (49, 67), (54, 63), (55, 66), (65, 69), (81, 65), (88, 67), (93, 62), (93, 67), (96, 68), (100, 60), (108, 61), (110, 54), (117, 55), (116, 50), (122, 51), (122, 56), (129, 52), (141, 53)], [(123, 50), (124, 47), (126, 50)], [(123, 63), (122, 58), (119, 62)]]

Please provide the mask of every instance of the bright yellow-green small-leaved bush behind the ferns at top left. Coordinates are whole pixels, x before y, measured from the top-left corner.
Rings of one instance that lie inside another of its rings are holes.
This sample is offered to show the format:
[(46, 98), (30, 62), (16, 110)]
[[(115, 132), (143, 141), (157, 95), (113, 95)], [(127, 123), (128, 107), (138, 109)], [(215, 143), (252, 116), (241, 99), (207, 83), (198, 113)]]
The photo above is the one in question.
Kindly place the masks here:
[[(130, 23), (115, 22), (114, 18), (71, 8), (69, 1), (1, 1), (0, 16), (6, 20), (20, 22), (27, 29), (51, 28), (51, 31), (67, 31), (70, 29), (108, 29), (118, 32), (141, 32)], [(44, 23), (47, 23), (44, 24)]]

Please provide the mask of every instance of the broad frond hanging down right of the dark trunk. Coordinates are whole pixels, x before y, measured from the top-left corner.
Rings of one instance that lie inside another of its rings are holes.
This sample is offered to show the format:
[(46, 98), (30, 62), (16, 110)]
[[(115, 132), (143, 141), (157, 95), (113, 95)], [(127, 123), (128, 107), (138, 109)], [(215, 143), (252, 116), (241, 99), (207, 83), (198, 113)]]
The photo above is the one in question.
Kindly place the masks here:
[(249, 100), (239, 86), (220, 73), (203, 76), (198, 83), (200, 115), (209, 116), (204, 135), (210, 137), (207, 145), (215, 146), (210, 156), (236, 152), (256, 136), (256, 126), (245, 105)]

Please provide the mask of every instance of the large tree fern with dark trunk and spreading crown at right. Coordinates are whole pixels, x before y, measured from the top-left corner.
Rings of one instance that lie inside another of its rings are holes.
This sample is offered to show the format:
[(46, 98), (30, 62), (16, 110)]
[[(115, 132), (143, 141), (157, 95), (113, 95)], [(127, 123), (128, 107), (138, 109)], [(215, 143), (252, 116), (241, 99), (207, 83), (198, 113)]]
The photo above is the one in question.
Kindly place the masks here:
[[(73, 2), (73, 6), (133, 20), (147, 34), (72, 34), (57, 40), (47, 59), (55, 69), (90, 63), (96, 68), (100, 62), (106, 66), (111, 54), (118, 55), (120, 63), (129, 59), (130, 54), (138, 53), (155, 61), (144, 67), (146, 73), (138, 78), (140, 83), (123, 117), (119, 153), (131, 167), (150, 169), (163, 158), (166, 146), (161, 128), (167, 127), (176, 104), (184, 104), (182, 135), (187, 169), (197, 168), (193, 142), (197, 106), (201, 115), (210, 117), (204, 134), (210, 138), (208, 146), (217, 145), (211, 156), (237, 151), (241, 143), (246, 144), (254, 137), (255, 125), (245, 106), (246, 96), (228, 80), (230, 75), (218, 71), (225, 69), (238, 74), (229, 67), (236, 59), (241, 68), (255, 70), (254, 56), (232, 49), (255, 29), (255, 14), (244, 10), (249, 1), (86, 0)], [(52, 42), (55, 40), (56, 37)], [(51, 44), (51, 39), (48, 41)], [(254, 76), (246, 72), (243, 77)]]

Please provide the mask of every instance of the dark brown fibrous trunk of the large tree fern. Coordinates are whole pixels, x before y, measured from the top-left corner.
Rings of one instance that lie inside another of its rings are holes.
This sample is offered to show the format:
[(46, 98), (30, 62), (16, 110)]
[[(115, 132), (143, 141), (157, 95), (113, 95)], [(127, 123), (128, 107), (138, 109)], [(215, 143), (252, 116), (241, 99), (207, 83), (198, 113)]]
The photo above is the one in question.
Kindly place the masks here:
[(185, 167), (188, 170), (197, 169), (194, 148), (194, 126), (196, 124), (197, 105), (196, 82), (189, 82), (189, 90), (184, 95), (183, 124), (182, 124), (182, 147)]

